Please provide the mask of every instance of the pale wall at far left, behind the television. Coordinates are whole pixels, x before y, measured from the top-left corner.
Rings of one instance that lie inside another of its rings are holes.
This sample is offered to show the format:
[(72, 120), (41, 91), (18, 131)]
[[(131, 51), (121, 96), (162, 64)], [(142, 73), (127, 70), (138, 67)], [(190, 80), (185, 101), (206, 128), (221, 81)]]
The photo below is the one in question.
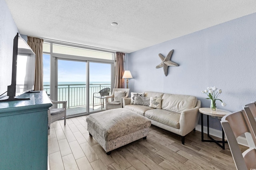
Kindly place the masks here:
[(13, 39), (17, 32), (18, 28), (5, 0), (0, 0), (0, 95), (7, 91), (12, 81)]

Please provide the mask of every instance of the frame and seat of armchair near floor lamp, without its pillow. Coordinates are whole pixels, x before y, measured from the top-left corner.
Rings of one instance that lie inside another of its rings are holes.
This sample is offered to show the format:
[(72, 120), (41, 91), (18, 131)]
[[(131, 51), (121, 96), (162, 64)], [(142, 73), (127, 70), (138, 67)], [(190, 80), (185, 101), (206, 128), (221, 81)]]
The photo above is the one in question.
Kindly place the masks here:
[[(125, 91), (125, 96), (120, 98), (120, 102), (119, 102), (119, 100), (118, 100), (118, 102), (115, 102), (114, 101), (114, 97), (115, 97), (114, 94), (115, 94), (115, 92), (118, 92), (118, 91)], [(111, 96), (107, 96), (105, 98), (105, 100), (106, 100), (106, 110), (122, 108), (123, 107), (123, 98), (128, 97), (129, 91), (130, 91), (129, 88), (113, 88)], [(109, 101), (109, 99), (110, 99), (110, 101)]]

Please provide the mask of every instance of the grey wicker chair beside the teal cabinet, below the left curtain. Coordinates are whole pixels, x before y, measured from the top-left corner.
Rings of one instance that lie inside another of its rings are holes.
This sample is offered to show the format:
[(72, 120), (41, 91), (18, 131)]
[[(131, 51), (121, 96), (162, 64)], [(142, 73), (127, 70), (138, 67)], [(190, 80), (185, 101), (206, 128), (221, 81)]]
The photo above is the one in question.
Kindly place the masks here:
[(66, 125), (66, 111), (67, 111), (67, 101), (53, 101), (52, 104), (62, 104), (62, 108), (49, 109), (48, 110), (48, 135), (50, 134), (50, 125), (54, 121), (60, 120), (64, 117), (64, 125)]

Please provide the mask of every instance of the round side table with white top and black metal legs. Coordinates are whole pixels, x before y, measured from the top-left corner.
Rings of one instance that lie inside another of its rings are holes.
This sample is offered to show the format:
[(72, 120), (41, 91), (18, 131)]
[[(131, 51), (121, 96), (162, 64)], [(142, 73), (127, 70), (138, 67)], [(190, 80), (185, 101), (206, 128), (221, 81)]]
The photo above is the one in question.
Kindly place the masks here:
[[(210, 116), (218, 116), (218, 117), (223, 117), (224, 115), (230, 114), (230, 111), (222, 110), (222, 109), (217, 109), (216, 111), (213, 111), (211, 108), (208, 107), (202, 107), (199, 108), (199, 112), (201, 113), (201, 135), (202, 135), (202, 142), (214, 142), (217, 145), (219, 145), (222, 149), (225, 149), (225, 143), (228, 143), (228, 141), (225, 141), (225, 134), (222, 128), (222, 141), (216, 141), (213, 139), (210, 134), (209, 134), (209, 115)], [(207, 115), (207, 136), (211, 140), (204, 140), (204, 120), (203, 120), (203, 115)], [(220, 145), (222, 143), (222, 145)]]

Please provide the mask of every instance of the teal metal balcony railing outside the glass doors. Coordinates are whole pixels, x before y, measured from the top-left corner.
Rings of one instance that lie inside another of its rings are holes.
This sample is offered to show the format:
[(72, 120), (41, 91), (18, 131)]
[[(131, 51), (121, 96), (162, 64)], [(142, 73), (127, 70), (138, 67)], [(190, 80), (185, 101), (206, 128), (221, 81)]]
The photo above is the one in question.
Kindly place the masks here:
[[(110, 87), (111, 84), (90, 84), (89, 104), (92, 105), (93, 93)], [(50, 85), (44, 85), (44, 91), (50, 94)], [(86, 84), (58, 84), (58, 101), (67, 101), (67, 108), (86, 106)], [(94, 105), (97, 104), (100, 99), (94, 98)]]

